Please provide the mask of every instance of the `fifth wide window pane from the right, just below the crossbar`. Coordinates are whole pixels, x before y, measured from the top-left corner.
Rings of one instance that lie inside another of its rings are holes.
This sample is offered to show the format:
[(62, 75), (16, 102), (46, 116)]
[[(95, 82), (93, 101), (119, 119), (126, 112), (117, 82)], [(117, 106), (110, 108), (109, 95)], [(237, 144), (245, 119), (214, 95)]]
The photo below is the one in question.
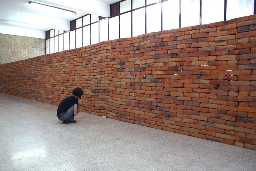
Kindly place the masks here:
[(147, 33), (161, 31), (161, 3), (147, 7)]

